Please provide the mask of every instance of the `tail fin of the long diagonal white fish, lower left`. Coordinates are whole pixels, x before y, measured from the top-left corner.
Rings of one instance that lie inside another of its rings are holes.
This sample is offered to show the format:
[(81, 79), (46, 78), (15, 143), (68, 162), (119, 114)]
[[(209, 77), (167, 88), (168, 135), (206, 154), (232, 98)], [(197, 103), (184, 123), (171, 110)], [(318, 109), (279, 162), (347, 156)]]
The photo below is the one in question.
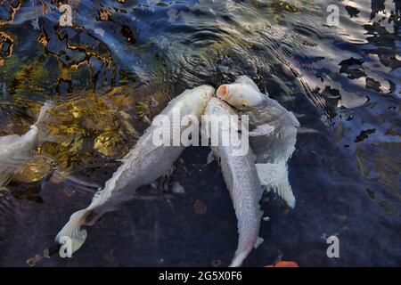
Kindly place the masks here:
[(72, 252), (76, 252), (82, 247), (86, 240), (86, 230), (81, 230), (81, 226), (86, 224), (86, 217), (91, 215), (92, 211), (83, 209), (70, 217), (70, 221), (64, 225), (61, 231), (57, 234), (55, 241), (62, 243), (65, 237), (71, 239)]

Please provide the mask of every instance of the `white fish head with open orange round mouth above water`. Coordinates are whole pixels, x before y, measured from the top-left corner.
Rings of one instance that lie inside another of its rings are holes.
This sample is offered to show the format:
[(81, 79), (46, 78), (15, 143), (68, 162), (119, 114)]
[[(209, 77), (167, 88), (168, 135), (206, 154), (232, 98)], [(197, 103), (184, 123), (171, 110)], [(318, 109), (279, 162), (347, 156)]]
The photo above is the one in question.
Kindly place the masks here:
[(264, 95), (248, 83), (221, 85), (217, 89), (217, 97), (234, 108), (258, 106), (264, 99)]

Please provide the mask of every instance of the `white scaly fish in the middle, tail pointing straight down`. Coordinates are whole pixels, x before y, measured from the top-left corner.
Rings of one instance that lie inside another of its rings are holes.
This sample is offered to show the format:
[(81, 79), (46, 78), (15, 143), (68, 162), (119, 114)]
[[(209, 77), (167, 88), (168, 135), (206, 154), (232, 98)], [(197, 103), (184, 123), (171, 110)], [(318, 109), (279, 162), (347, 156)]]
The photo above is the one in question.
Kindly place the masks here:
[[(213, 98), (206, 108), (207, 115), (235, 115), (233, 108), (225, 102)], [(226, 131), (218, 126), (219, 134)], [(241, 135), (241, 134), (239, 134)], [(220, 160), (225, 184), (230, 191), (235, 215), (238, 219), (238, 248), (231, 267), (241, 266), (254, 247), (261, 242), (258, 238), (262, 211), (259, 200), (262, 198), (262, 187), (259, 182), (257, 168), (250, 151), (243, 155), (234, 154), (237, 147), (229, 143), (227, 146), (212, 146), (212, 152)]]

